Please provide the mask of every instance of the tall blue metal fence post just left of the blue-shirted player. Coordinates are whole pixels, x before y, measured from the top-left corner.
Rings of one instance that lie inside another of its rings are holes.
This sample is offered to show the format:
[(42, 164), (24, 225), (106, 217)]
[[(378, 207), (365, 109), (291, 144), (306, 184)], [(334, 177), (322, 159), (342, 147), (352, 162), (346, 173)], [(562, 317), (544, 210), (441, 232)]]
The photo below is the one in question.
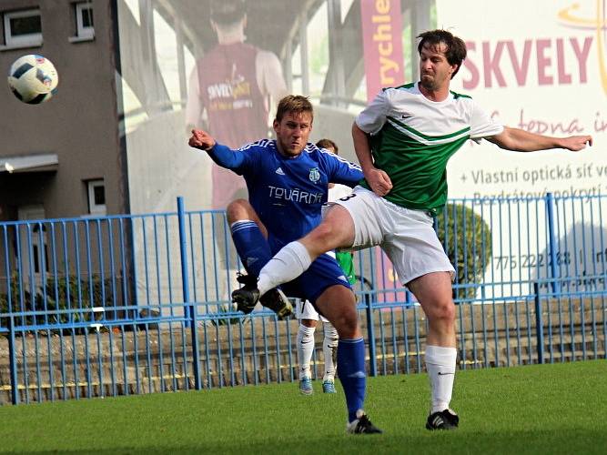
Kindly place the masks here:
[(186, 236), (186, 209), (184, 208), (183, 197), (177, 197), (177, 219), (179, 221), (179, 253), (181, 256), (181, 288), (183, 291), (184, 315), (189, 321), (190, 333), (192, 336), (192, 368), (194, 373), (194, 387), (197, 390), (202, 389), (200, 380), (200, 359), (198, 355), (198, 329), (197, 329), (197, 311), (196, 302), (191, 302), (189, 298), (189, 279), (187, 271), (187, 236)]

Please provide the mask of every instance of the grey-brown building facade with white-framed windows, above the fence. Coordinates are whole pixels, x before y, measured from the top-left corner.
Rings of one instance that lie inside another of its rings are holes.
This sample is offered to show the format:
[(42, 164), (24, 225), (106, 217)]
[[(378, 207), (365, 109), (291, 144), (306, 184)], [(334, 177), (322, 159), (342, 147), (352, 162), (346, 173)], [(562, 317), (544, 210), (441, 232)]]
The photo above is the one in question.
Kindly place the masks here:
[[(3, 0), (0, 67), (46, 56), (58, 92), (41, 105), (0, 90), (0, 220), (83, 217), (128, 209), (109, 2)], [(8, 170), (5, 164), (8, 164)]]

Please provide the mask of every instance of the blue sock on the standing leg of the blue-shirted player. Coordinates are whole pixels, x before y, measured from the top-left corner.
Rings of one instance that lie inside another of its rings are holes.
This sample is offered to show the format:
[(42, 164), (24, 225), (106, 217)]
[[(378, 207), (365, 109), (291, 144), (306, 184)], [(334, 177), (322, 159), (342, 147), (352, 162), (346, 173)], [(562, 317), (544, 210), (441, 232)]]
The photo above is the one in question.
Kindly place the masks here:
[(339, 339), (338, 376), (346, 393), (348, 421), (356, 420), (356, 411), (365, 402), (365, 341), (363, 339)]

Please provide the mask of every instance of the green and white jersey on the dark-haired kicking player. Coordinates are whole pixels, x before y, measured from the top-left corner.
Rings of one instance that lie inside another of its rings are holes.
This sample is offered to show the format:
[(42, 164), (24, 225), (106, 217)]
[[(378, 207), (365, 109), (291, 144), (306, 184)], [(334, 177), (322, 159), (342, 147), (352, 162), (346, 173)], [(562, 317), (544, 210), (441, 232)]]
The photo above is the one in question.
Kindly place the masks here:
[[(449, 158), (466, 140), (503, 131), (470, 96), (450, 92), (430, 101), (417, 83), (384, 88), (356, 124), (371, 135), (375, 167), (392, 181), (386, 199), (433, 214), (447, 201)], [(365, 180), (361, 185), (369, 188)]]

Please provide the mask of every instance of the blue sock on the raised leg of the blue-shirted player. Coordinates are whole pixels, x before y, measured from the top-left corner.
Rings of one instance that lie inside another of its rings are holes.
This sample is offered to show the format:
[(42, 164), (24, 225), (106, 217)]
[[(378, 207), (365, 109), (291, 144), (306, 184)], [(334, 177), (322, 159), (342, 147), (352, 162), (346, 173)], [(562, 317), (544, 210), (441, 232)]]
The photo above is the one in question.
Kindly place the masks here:
[(242, 264), (249, 275), (258, 277), (259, 270), (272, 258), (268, 239), (263, 236), (258, 225), (248, 219), (233, 223), (230, 230)]

